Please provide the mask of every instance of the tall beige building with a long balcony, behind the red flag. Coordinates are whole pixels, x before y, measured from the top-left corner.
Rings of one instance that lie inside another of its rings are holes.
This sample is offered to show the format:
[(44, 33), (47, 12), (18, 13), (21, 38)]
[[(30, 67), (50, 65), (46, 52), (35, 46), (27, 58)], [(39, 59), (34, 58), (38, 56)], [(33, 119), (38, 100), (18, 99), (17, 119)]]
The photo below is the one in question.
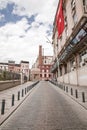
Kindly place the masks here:
[(57, 12), (54, 19), (51, 72), (60, 83), (87, 86), (87, 0), (63, 0), (63, 13), (65, 28), (60, 39)]

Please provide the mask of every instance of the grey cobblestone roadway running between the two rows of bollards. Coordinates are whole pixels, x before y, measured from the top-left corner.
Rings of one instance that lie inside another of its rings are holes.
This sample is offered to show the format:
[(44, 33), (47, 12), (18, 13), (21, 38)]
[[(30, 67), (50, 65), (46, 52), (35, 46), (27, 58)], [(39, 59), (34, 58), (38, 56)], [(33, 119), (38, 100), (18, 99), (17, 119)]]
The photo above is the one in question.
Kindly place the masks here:
[(87, 130), (87, 110), (41, 81), (0, 130)]

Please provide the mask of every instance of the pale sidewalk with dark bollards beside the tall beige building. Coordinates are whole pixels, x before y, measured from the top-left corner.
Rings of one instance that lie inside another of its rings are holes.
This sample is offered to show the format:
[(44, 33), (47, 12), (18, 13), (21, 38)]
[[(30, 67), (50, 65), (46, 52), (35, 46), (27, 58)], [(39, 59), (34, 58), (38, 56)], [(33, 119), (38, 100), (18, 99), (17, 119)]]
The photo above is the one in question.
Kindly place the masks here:
[(74, 85), (58, 84), (57, 82), (50, 81), (64, 91), (66, 95), (78, 102), (81, 106), (87, 109), (87, 87), (79, 87)]

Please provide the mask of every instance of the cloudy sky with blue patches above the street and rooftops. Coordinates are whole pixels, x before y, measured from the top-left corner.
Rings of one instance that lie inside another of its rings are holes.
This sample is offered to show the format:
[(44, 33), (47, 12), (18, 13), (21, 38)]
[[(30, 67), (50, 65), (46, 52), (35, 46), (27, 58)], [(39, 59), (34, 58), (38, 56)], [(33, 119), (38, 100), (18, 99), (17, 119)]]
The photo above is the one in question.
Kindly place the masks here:
[[(53, 21), (59, 0), (0, 0), (0, 62), (29, 61), (38, 56), (52, 56)], [(47, 38), (46, 38), (47, 37)]]

